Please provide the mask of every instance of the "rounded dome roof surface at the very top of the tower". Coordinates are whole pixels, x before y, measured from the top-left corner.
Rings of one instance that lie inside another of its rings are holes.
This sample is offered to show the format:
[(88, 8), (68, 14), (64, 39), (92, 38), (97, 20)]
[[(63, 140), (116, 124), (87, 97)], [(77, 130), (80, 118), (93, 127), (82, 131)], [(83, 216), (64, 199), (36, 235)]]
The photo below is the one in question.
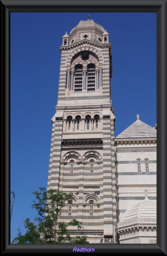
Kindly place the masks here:
[(102, 26), (100, 26), (99, 24), (97, 24), (96, 22), (94, 22), (93, 20), (81, 20), (78, 25), (76, 25), (75, 28), (73, 28), (70, 32), (69, 35), (71, 35), (76, 29), (78, 30), (79, 28), (83, 29), (83, 28), (92, 28), (92, 29), (97, 29), (99, 30), (102, 34), (104, 33), (104, 28)]

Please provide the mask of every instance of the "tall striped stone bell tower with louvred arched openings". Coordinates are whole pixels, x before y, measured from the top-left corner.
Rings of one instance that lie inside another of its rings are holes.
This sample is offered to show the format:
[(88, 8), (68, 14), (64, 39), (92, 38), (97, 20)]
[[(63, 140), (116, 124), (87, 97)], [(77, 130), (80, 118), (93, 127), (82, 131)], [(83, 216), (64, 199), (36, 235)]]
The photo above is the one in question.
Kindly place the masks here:
[[(82, 222), (90, 243), (115, 243), (114, 110), (109, 34), (82, 20), (62, 37), (48, 189), (73, 193), (61, 220)], [(72, 234), (78, 234), (70, 228)]]

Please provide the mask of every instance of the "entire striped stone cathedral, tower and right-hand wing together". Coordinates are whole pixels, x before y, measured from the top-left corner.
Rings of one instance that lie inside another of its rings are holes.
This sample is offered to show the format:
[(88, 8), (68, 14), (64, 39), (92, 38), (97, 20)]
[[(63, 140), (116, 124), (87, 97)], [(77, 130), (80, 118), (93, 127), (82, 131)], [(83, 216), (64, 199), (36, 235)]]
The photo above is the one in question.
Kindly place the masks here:
[(62, 39), (48, 176), (48, 189), (73, 193), (61, 221), (81, 221), (90, 243), (156, 243), (156, 128), (137, 115), (114, 137), (112, 51), (102, 26), (88, 16)]

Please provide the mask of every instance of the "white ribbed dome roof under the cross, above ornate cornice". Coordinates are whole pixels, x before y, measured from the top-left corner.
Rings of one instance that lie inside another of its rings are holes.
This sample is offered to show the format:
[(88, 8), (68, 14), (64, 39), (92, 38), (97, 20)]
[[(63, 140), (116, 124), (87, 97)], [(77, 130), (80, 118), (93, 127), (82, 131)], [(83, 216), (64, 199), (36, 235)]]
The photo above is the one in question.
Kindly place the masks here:
[(132, 205), (123, 215), (122, 221), (134, 218), (156, 218), (156, 203), (146, 197), (143, 201)]

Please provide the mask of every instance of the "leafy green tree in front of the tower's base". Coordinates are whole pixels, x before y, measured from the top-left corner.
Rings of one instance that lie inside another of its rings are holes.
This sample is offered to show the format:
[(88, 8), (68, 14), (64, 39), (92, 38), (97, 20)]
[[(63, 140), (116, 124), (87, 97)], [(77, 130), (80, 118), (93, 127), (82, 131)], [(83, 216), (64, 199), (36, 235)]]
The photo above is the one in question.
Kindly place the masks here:
[(18, 228), (18, 236), (12, 240), (16, 244), (89, 244), (87, 236), (71, 237), (68, 232), (69, 226), (76, 226), (80, 231), (83, 227), (78, 220), (71, 220), (68, 224), (60, 221), (61, 211), (64, 203), (73, 200), (72, 193), (63, 193), (55, 189), (46, 190), (39, 188), (39, 192), (32, 194), (36, 197), (32, 208), (38, 212), (38, 217), (34, 220), (38, 223), (36, 226), (30, 219), (24, 221), (24, 227), (27, 229), (25, 235), (21, 234)]

